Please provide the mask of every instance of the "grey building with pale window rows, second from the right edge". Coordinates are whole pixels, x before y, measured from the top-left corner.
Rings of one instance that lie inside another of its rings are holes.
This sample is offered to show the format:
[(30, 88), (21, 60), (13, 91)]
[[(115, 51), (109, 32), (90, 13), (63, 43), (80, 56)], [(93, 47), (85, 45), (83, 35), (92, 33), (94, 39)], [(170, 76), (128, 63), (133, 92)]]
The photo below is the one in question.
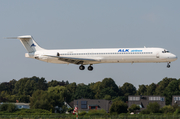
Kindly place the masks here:
[(128, 96), (128, 107), (136, 104), (140, 106), (140, 111), (146, 109), (151, 102), (157, 102), (161, 108), (166, 104), (163, 96)]

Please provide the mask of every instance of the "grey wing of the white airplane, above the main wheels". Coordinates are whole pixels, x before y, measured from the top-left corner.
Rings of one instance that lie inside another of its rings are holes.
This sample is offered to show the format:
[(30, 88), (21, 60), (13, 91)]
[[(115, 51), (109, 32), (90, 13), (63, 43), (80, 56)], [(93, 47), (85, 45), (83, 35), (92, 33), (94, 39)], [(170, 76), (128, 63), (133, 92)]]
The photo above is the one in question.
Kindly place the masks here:
[(44, 55), (52, 58), (57, 58), (58, 60), (72, 63), (72, 64), (98, 64), (101, 62), (100, 59), (86, 59), (86, 58), (73, 58), (73, 57), (60, 57), (60, 56), (52, 56), (52, 55)]

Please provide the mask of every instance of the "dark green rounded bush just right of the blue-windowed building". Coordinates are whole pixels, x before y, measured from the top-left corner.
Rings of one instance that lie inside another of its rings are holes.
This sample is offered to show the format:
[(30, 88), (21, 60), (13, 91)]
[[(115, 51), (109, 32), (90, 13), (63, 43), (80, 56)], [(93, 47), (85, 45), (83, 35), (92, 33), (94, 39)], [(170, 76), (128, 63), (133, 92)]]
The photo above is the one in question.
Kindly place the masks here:
[(115, 101), (112, 103), (111, 107), (110, 107), (110, 113), (116, 113), (116, 114), (120, 114), (120, 113), (127, 113), (127, 104), (124, 103), (123, 101)]

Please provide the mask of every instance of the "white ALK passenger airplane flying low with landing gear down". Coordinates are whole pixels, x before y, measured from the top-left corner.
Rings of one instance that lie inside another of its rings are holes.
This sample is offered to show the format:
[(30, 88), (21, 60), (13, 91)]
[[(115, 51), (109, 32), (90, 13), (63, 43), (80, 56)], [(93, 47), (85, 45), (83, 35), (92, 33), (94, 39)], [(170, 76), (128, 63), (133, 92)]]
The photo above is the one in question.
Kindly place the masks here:
[(25, 57), (48, 63), (76, 64), (84, 70), (89, 65), (92, 71), (93, 64), (99, 63), (170, 63), (177, 60), (177, 56), (164, 48), (104, 48), (104, 49), (55, 49), (41, 48), (31, 35), (8, 37), (6, 39), (19, 39), (28, 53)]

